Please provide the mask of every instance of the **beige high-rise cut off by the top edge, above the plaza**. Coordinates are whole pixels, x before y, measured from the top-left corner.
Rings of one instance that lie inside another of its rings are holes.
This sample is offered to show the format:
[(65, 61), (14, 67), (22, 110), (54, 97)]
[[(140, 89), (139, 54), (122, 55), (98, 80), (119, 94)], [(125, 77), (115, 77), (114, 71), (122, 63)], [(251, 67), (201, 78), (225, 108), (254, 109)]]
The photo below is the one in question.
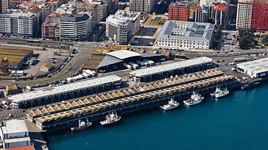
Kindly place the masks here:
[(157, 0), (129, 0), (129, 10), (136, 12), (152, 12), (157, 5)]

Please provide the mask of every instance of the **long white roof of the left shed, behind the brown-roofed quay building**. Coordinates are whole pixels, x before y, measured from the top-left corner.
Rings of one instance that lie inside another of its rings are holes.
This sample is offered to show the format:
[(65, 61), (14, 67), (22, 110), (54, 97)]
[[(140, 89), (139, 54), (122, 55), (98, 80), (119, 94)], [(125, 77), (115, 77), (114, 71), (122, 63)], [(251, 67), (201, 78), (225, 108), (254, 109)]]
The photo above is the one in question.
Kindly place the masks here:
[(120, 78), (117, 75), (109, 75), (109, 76), (93, 78), (93, 79), (85, 80), (81, 82), (75, 82), (75, 83), (65, 84), (65, 85), (56, 86), (56, 87), (45, 88), (42, 90), (16, 94), (16, 95), (10, 96), (9, 99), (12, 100), (12, 102), (23, 102), (23, 101), (28, 101), (30, 99), (47, 97), (51, 95), (66, 93), (66, 92), (70, 92), (74, 90), (94, 87), (97, 85), (103, 85), (106, 83), (117, 82), (121, 80), (122, 78)]

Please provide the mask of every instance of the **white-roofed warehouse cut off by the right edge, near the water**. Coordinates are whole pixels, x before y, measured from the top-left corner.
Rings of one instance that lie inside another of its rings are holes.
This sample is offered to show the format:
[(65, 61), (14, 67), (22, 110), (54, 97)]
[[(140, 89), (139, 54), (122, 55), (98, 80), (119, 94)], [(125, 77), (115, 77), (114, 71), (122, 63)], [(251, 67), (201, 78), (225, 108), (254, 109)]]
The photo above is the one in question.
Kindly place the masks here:
[(249, 75), (251, 78), (267, 77), (268, 58), (237, 64), (237, 70)]

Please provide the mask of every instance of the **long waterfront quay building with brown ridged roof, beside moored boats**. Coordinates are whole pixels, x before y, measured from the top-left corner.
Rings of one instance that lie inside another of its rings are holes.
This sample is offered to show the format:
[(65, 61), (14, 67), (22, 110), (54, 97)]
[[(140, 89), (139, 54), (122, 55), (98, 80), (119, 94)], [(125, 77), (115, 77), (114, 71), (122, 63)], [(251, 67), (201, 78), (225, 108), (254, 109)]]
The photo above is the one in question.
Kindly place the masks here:
[(234, 76), (224, 75), (218, 69), (209, 69), (30, 108), (26, 110), (26, 115), (40, 129), (59, 128), (74, 125), (79, 119), (99, 119), (111, 111), (125, 112), (159, 105), (171, 97), (185, 98), (193, 91), (210, 92), (217, 86), (233, 85), (237, 85)]

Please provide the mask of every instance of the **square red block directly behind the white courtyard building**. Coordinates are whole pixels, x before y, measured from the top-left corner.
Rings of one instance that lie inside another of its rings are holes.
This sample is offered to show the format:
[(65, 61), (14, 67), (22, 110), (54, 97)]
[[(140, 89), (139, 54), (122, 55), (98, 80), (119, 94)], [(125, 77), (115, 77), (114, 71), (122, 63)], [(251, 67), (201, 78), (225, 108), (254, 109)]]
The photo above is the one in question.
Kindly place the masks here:
[(171, 2), (168, 6), (168, 20), (189, 21), (190, 5)]

